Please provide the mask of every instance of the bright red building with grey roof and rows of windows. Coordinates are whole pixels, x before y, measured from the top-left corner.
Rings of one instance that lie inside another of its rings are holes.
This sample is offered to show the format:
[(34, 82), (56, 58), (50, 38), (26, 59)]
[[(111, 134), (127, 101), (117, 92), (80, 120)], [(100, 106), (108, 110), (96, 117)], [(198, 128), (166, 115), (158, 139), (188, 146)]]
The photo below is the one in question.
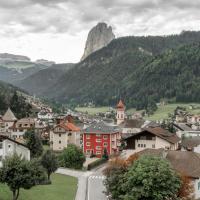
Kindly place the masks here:
[(86, 155), (101, 157), (106, 149), (110, 155), (119, 151), (120, 140), (121, 132), (118, 126), (96, 122), (84, 130), (83, 151)]

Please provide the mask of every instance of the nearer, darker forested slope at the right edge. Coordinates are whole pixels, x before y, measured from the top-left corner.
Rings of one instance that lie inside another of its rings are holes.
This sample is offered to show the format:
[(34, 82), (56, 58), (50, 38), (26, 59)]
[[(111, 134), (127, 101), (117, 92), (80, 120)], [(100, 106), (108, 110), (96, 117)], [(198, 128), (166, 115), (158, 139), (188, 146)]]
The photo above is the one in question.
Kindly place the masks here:
[(144, 108), (148, 102), (172, 99), (200, 101), (200, 43), (183, 45), (155, 56), (122, 82), (128, 104)]

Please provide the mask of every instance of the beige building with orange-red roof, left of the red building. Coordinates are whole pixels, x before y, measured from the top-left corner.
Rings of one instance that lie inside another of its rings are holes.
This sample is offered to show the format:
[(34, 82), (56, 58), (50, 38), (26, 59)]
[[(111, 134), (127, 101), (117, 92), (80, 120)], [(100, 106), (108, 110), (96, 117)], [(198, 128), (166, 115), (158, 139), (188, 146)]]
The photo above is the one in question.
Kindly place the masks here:
[(62, 151), (68, 144), (81, 146), (81, 131), (73, 123), (62, 122), (50, 131), (50, 145), (54, 151)]

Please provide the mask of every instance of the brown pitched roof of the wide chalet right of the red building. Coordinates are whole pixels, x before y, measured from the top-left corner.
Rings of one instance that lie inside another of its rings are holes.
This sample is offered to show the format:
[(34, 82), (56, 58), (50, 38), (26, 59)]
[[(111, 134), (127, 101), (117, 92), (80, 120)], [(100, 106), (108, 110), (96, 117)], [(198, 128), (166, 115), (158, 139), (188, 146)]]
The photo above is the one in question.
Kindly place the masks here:
[(127, 140), (128, 138), (135, 137), (136, 135), (139, 135), (144, 132), (149, 132), (149, 133), (156, 135), (157, 137), (162, 138), (163, 140), (166, 140), (172, 144), (175, 144), (181, 140), (176, 134), (170, 133), (169, 131), (167, 131), (161, 127), (143, 129), (141, 132), (136, 133), (130, 137), (127, 137), (125, 140)]

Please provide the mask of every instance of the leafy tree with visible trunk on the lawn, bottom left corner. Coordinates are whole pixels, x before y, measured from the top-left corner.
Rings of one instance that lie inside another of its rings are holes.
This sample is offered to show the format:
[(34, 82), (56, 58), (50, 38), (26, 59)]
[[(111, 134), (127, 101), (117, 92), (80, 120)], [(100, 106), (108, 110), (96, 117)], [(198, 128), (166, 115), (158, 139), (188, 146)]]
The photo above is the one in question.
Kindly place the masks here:
[(17, 154), (3, 160), (0, 168), (0, 182), (8, 185), (13, 193), (13, 200), (18, 199), (20, 188), (30, 189), (45, 179), (44, 169), (37, 161), (27, 161)]

